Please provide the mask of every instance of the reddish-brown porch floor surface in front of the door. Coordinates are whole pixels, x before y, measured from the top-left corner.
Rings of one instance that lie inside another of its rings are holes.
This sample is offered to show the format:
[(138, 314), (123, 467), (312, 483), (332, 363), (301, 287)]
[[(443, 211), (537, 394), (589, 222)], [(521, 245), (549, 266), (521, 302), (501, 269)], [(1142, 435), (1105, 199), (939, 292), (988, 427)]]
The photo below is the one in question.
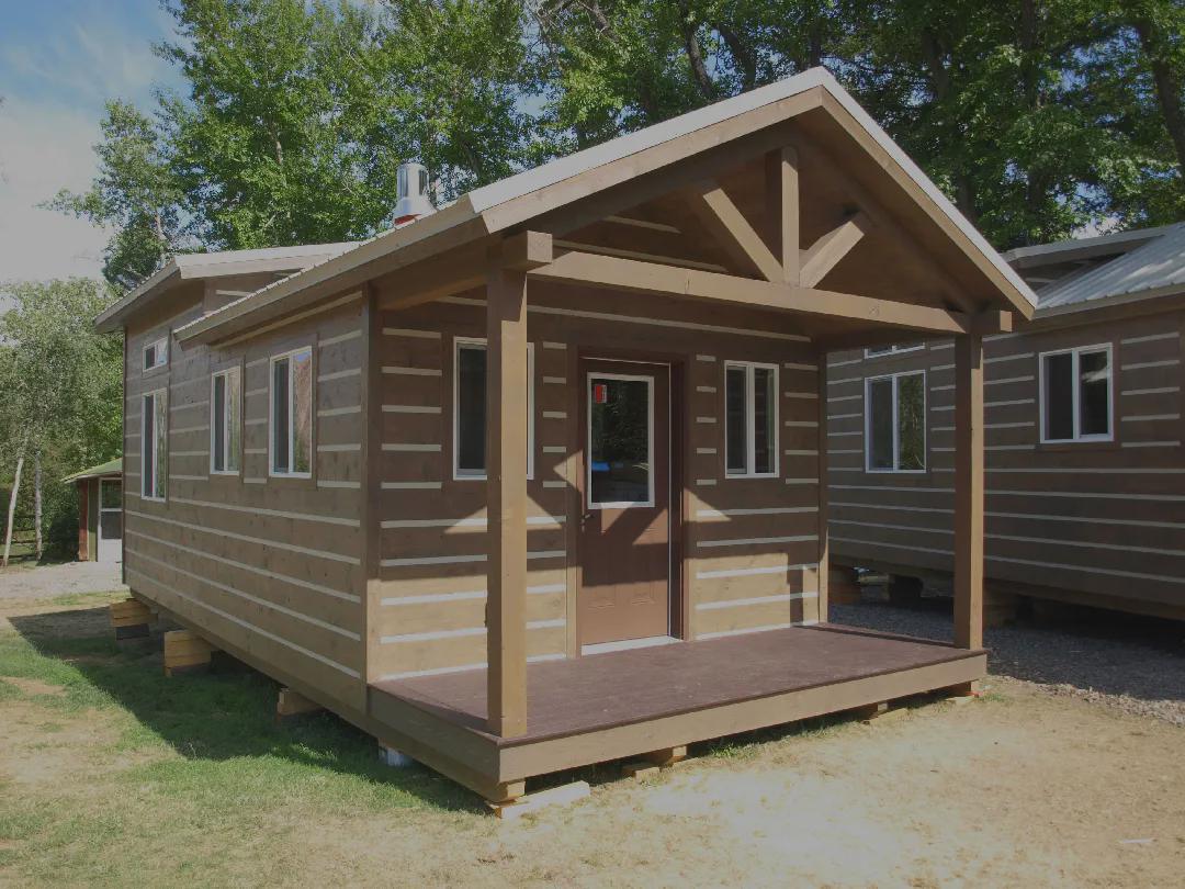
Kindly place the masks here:
[(540, 661), (527, 666), (527, 734), (506, 740), (485, 731), (485, 670), (374, 687), (515, 746), (979, 654), (825, 623)]

